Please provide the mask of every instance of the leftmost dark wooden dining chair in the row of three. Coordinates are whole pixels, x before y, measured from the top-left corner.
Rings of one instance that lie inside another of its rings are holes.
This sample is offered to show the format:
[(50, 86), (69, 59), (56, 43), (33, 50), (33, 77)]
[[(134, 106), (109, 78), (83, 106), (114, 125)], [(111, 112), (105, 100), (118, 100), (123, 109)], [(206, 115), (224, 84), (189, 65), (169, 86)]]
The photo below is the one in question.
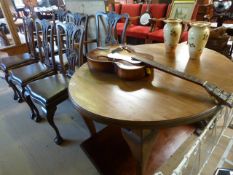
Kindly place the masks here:
[(35, 37), (34, 37), (34, 21), (30, 17), (23, 18), (25, 41), (28, 47), (28, 52), (20, 55), (8, 56), (0, 59), (0, 69), (5, 74), (5, 80), (14, 91), (14, 100), (22, 102), (19, 97), (19, 92), (9, 82), (9, 71), (25, 65), (38, 62), (38, 54), (36, 53)]

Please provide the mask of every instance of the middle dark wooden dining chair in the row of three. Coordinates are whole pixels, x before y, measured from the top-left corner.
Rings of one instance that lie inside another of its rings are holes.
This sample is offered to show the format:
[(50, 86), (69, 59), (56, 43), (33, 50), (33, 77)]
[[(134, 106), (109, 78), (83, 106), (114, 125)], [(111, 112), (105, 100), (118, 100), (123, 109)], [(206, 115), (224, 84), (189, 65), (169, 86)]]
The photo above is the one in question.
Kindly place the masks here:
[[(23, 101), (23, 99), (26, 101), (24, 92), (25, 86), (29, 82), (53, 75), (57, 71), (56, 66), (52, 63), (52, 60), (54, 60), (54, 24), (45, 19), (35, 19), (35, 30), (40, 61), (16, 69), (11, 69), (9, 73), (9, 82), (12, 88), (16, 89), (18, 92), (21, 101)], [(31, 117), (34, 118), (33, 116)]]

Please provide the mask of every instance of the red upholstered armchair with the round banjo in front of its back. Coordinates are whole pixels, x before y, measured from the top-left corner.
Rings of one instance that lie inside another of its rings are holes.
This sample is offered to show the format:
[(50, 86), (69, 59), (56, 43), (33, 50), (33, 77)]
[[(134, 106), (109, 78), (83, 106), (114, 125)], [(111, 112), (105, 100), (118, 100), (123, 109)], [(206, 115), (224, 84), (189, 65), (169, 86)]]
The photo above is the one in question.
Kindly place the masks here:
[[(146, 12), (147, 4), (143, 4), (140, 14)], [(151, 4), (150, 12), (152, 18), (164, 18), (167, 11), (167, 4)], [(163, 22), (158, 22), (156, 25), (156, 30), (163, 28)], [(133, 38), (147, 39), (148, 33), (151, 31), (150, 26), (141, 26), (140, 24), (131, 25), (126, 30), (126, 36)]]

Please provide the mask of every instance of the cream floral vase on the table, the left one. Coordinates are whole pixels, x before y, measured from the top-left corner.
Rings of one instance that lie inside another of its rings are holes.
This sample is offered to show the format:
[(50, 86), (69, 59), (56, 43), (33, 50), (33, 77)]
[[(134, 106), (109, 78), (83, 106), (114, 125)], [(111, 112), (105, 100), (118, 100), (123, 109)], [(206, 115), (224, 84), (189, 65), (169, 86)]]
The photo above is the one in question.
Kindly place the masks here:
[(180, 19), (166, 19), (166, 25), (163, 28), (164, 44), (166, 52), (174, 52), (180, 40), (182, 31)]

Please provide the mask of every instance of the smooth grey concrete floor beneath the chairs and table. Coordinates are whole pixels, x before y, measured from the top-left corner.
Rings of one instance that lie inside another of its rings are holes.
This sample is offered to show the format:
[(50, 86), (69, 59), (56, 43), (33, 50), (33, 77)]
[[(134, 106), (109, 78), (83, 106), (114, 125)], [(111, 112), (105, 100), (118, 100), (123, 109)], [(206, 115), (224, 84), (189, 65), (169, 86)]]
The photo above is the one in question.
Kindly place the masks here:
[[(53, 142), (55, 134), (47, 121), (35, 123), (29, 114), (26, 104), (13, 101), (11, 90), (0, 80), (0, 175), (99, 174), (80, 148), (80, 143), (90, 135), (69, 101), (59, 105), (55, 114), (55, 122), (66, 139), (62, 146)], [(101, 129), (103, 125), (97, 124), (97, 128)], [(232, 130), (227, 132), (232, 136)], [(226, 146), (227, 142), (223, 139), (204, 169), (204, 175), (214, 172)], [(187, 145), (183, 147), (187, 148)], [(174, 166), (172, 161), (183, 153), (183, 149), (178, 150), (161, 169), (171, 171)], [(233, 159), (233, 155), (230, 156)]]

